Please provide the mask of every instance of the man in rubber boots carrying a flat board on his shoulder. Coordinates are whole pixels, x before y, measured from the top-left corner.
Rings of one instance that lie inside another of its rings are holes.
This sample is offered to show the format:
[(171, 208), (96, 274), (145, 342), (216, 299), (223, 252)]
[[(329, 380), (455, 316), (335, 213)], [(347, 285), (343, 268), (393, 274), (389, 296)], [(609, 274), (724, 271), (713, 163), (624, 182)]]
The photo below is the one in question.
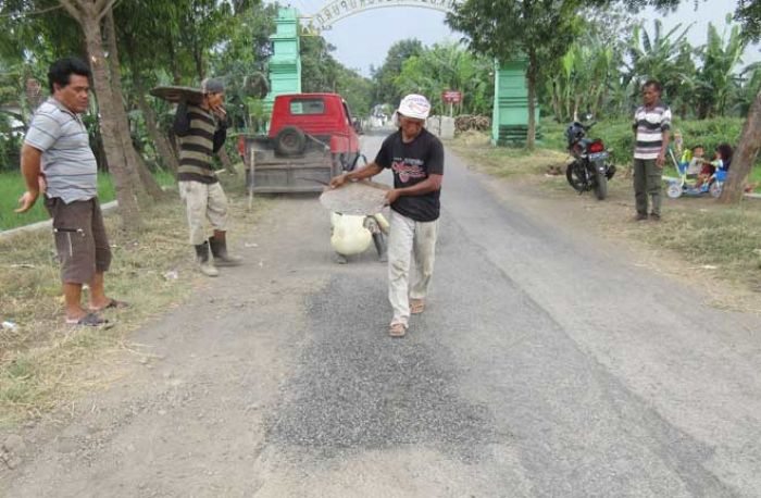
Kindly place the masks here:
[[(204, 275), (216, 276), (220, 272), (214, 263), (232, 266), (240, 264), (240, 259), (227, 253), (227, 197), (212, 169), (212, 155), (227, 138), (227, 114), (222, 107), (225, 88), (219, 79), (204, 79), (201, 91), (201, 103), (177, 105), (174, 119), (174, 133), (179, 137), (177, 184), (187, 208), (190, 244), (196, 247), (199, 269)], [(209, 239), (203, 226), (207, 219), (214, 229)]]

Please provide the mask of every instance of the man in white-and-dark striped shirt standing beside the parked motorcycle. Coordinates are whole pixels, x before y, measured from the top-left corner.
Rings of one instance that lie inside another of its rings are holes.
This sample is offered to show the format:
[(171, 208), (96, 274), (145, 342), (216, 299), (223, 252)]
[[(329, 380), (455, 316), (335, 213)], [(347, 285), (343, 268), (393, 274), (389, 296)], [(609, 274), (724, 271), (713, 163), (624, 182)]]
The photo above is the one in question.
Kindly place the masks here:
[(648, 219), (648, 196), (652, 198), (651, 220), (661, 219), (661, 175), (671, 129), (671, 110), (661, 101), (661, 85), (650, 79), (643, 85), (643, 103), (634, 113), (634, 198), (636, 220)]

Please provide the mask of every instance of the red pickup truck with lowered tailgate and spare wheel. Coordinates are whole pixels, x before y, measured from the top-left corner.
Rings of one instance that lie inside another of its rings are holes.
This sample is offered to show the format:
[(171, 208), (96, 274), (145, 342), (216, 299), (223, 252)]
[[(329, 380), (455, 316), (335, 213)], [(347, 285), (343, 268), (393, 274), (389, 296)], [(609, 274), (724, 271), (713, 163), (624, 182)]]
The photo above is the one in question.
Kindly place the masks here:
[(252, 191), (321, 191), (353, 166), (360, 142), (339, 95), (294, 94), (275, 97), (269, 134), (240, 135), (238, 151)]

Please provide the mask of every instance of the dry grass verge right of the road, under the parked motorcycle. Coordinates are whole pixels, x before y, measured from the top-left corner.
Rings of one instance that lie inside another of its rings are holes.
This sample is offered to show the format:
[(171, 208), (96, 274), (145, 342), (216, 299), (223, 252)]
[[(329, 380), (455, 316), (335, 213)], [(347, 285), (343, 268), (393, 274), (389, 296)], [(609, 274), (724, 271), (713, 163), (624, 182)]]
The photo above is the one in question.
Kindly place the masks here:
[[(578, 196), (564, 174), (548, 176), (550, 166), (562, 165), (567, 154), (556, 150), (495, 148), (483, 134), (466, 133), (447, 144), (466, 162), (483, 173), (509, 178), (528, 196), (541, 196), (562, 204), (574, 223), (599, 231), (627, 246), (643, 244), (662, 262), (678, 261), (679, 271), (690, 273), (698, 285), (708, 287), (716, 278), (746, 294), (744, 302), (724, 296), (715, 300), (721, 308), (761, 312), (761, 200), (747, 199), (738, 206), (718, 203), (710, 196), (669, 199), (664, 195), (663, 221), (633, 223), (634, 194), (626, 169), (620, 169), (609, 184), (609, 197), (602, 202), (591, 194)], [(577, 212), (576, 212), (577, 211)], [(753, 303), (754, 302), (754, 303)]]

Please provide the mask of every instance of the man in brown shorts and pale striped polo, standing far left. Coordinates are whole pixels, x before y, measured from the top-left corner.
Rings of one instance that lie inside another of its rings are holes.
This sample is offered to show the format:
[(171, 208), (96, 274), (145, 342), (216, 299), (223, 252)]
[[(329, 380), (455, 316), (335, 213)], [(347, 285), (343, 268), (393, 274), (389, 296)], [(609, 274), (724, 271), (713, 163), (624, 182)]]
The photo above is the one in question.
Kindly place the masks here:
[[(103, 290), (111, 247), (97, 197), (98, 167), (79, 117), (89, 105), (89, 67), (78, 59), (60, 59), (50, 66), (52, 97), (35, 112), (21, 150), (26, 192), (16, 212), (32, 209), (47, 182), (45, 207), (53, 219), (66, 323), (97, 326), (108, 322), (98, 311), (127, 304)], [(89, 310), (80, 302), (84, 284), (90, 289)]]

